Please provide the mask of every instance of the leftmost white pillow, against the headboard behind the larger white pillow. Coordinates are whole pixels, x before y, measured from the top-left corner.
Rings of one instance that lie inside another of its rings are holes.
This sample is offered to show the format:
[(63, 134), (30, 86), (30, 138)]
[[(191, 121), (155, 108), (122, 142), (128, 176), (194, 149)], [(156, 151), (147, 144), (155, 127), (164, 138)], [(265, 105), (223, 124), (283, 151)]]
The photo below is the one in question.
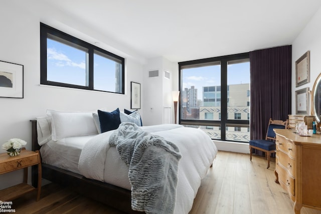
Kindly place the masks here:
[(51, 140), (51, 117), (37, 117), (38, 144), (41, 146)]

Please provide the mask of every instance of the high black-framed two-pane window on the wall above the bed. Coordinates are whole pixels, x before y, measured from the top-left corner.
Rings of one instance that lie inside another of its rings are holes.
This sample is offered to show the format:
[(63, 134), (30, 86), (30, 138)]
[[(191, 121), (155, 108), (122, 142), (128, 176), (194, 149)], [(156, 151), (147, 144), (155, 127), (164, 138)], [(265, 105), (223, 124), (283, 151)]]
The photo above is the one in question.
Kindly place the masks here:
[(124, 94), (124, 58), (40, 24), (40, 83)]

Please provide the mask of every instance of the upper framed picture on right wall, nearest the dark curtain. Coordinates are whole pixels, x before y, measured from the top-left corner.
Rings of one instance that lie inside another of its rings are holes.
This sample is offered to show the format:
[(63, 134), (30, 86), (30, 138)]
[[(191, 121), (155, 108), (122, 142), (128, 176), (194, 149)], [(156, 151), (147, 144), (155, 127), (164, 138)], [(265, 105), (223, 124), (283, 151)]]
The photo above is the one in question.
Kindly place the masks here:
[(296, 87), (310, 82), (310, 51), (295, 61)]

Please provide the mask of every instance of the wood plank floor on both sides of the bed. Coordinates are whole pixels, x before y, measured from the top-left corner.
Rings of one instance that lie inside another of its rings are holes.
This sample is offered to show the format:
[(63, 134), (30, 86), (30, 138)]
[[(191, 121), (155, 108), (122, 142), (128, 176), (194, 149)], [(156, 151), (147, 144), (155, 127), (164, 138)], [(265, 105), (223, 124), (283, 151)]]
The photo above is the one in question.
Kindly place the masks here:
[[(275, 159), (266, 169), (263, 157), (219, 151), (194, 200), (190, 214), (294, 213), (293, 202), (274, 182)], [(113, 208), (79, 196), (56, 184), (43, 186), (41, 199), (35, 194), (13, 201), (16, 213), (117, 213)], [(302, 207), (302, 214), (321, 213)]]

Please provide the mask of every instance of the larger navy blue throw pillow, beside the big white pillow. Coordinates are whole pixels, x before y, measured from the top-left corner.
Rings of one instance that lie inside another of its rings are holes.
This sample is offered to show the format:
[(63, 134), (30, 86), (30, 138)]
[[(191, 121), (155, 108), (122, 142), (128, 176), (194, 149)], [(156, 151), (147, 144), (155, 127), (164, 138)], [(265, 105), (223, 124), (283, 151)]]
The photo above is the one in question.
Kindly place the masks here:
[(98, 110), (101, 133), (117, 129), (120, 124), (119, 108), (112, 112)]

